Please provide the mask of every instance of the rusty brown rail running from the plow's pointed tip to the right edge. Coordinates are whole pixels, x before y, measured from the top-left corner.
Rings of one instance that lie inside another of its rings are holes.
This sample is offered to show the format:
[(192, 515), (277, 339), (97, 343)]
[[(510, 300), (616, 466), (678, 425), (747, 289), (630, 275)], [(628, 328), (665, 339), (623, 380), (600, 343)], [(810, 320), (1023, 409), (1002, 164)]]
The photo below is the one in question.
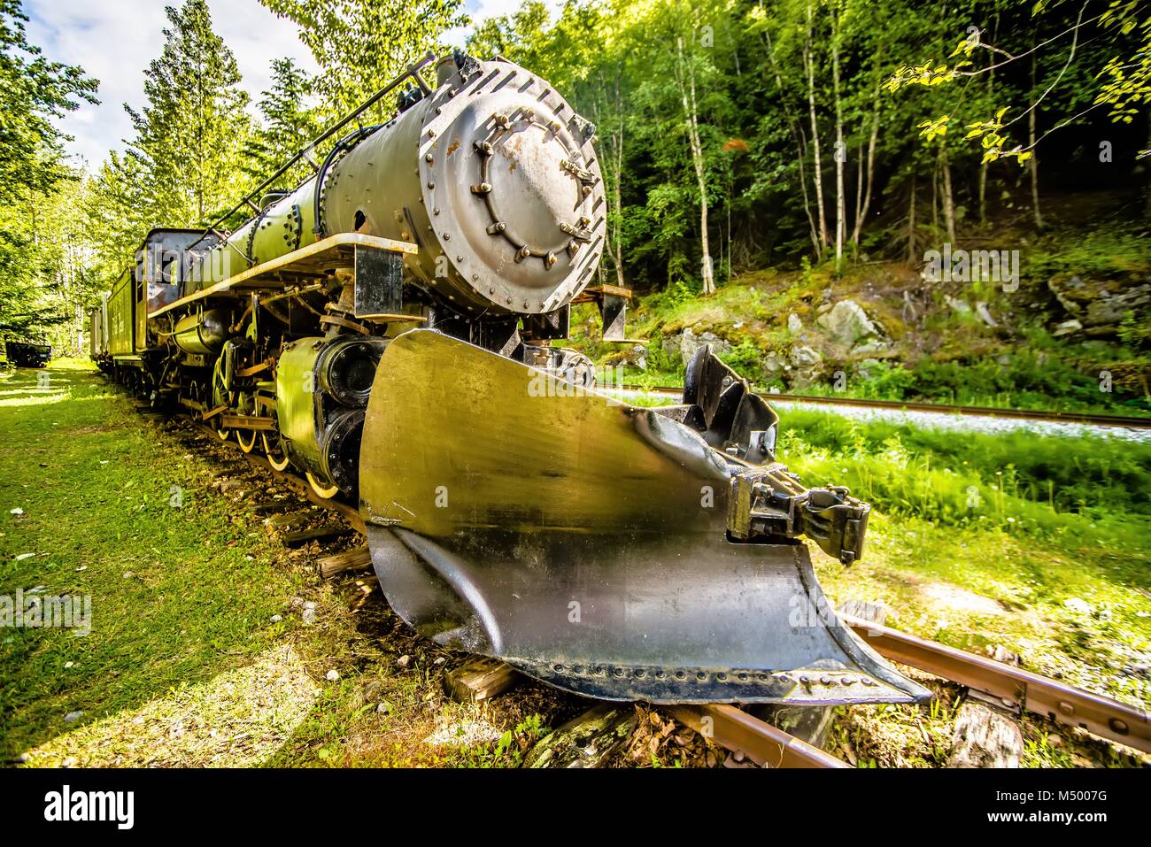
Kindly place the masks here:
[(1064, 685), (1021, 667), (958, 650), (846, 615), (846, 624), (881, 655), (999, 697), (1004, 705), (1043, 715), (1151, 753), (1148, 714), (1127, 703)]

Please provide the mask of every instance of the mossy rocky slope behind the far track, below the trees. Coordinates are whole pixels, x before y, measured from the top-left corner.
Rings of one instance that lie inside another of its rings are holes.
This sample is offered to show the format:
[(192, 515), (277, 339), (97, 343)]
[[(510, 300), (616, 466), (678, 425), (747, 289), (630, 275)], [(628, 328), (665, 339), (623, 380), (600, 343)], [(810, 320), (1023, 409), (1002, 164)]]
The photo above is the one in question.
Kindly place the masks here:
[[(703, 344), (755, 383), (1014, 407), (1145, 410), (1151, 250), (1137, 236), (1054, 236), (1020, 250), (1015, 280), (946, 278), (869, 262), (746, 273), (709, 298), (686, 285), (640, 297), (623, 349), (573, 318), (577, 345), (630, 379), (674, 382)], [(976, 245), (980, 246), (980, 245)], [(959, 274), (962, 276), (962, 274)]]

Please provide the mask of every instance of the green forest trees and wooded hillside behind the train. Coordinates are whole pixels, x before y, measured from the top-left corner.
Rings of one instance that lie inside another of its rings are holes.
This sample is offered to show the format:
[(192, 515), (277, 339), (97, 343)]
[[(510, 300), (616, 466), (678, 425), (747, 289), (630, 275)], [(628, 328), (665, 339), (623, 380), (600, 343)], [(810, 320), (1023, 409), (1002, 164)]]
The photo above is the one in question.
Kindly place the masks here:
[[(167, 9), (143, 107), (124, 106), (124, 150), (78, 167), (68, 114), (99, 81), (45, 56), (18, 0), (0, 0), (0, 333), (79, 353), (86, 308), (148, 229), (206, 226), (295, 153), (322, 160), (310, 142), (326, 125), (426, 51), (463, 47), (535, 70), (596, 124), (601, 281), (641, 296), (638, 364), (656, 376), (680, 368), (685, 329), (784, 388), (846, 363), (901, 391), (914, 380), (893, 371), (935, 384), (955, 363), (976, 373), (1050, 348), (1070, 366), (1030, 361), (1041, 394), (1106, 373), (1146, 406), (1145, 5), (569, 0), (551, 13), (527, 0), (450, 45), (444, 32), (468, 22), (460, 0), (260, 1), (299, 26), (320, 73), (275, 60), (253, 101), (205, 0), (185, 0)], [(394, 109), (386, 98), (365, 120)], [(311, 174), (297, 171), (289, 182)], [(931, 276), (939, 255), (981, 249), (1015, 258), (1021, 290)], [(877, 344), (807, 338), (811, 319), (826, 325), (828, 292), (864, 302)], [(601, 359), (637, 364), (588, 336)], [(989, 380), (984, 394), (1003, 388)]]

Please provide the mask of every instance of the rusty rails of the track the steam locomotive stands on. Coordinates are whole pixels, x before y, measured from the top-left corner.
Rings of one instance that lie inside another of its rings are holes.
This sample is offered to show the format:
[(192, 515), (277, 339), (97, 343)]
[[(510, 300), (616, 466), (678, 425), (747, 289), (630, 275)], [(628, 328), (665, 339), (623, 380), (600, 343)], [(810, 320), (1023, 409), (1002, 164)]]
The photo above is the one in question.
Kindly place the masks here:
[[(355, 508), (319, 496), (305, 479), (277, 471), (254, 451), (243, 452), (233, 440), (221, 442), (211, 427), (196, 425), (195, 428), (208, 434), (221, 447), (239, 451), (250, 466), (267, 472), (297, 496), (331, 510), (363, 534), (364, 522)], [(871, 621), (843, 613), (839, 617), (884, 658), (963, 685), (1016, 714), (1031, 712), (1151, 754), (1151, 719), (1142, 709)], [(761, 766), (851, 766), (735, 705), (680, 704), (666, 707), (664, 711), (721, 747), (741, 754)]]

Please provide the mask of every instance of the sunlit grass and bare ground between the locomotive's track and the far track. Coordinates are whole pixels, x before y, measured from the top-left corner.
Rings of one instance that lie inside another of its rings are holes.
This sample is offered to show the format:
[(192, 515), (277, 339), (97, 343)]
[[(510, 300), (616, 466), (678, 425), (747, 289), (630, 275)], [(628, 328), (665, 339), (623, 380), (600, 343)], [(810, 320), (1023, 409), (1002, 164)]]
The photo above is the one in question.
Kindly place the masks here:
[(779, 457), (805, 484), (870, 502), (868, 549), (839, 600), (883, 602), (894, 625), (1131, 702), (1151, 680), (1151, 445), (958, 434), (823, 412), (783, 419)]

